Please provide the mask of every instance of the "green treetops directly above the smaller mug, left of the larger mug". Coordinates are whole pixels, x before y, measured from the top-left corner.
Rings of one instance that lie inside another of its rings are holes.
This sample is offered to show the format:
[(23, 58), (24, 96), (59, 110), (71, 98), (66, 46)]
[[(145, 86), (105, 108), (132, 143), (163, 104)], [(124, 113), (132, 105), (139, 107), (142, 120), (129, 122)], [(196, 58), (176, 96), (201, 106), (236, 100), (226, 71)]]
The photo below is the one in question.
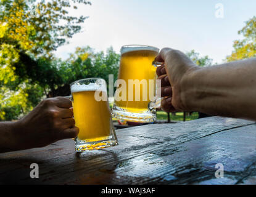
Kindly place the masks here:
[(91, 47), (77, 47), (67, 61), (59, 67), (60, 78), (66, 84), (83, 78), (102, 78), (109, 82), (109, 74), (117, 79), (120, 55), (112, 47), (104, 52), (94, 52)]

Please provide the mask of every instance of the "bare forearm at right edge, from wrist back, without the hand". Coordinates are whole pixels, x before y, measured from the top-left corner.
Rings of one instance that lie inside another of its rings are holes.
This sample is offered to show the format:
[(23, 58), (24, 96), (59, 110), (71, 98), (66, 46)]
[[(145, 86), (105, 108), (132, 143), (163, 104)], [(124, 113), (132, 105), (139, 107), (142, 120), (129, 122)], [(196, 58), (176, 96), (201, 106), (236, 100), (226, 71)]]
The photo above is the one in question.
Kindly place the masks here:
[(256, 120), (256, 58), (192, 71), (182, 92), (189, 111)]

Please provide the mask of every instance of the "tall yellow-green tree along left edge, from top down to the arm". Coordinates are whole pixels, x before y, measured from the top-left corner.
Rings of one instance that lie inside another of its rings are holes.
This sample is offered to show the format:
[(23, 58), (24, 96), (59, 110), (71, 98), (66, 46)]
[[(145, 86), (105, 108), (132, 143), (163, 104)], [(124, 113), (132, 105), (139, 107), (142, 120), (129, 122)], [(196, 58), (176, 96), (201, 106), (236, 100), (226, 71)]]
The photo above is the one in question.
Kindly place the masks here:
[(0, 0), (0, 119), (27, 113), (60, 83), (52, 51), (81, 30), (87, 17), (67, 11), (77, 4), (90, 2)]

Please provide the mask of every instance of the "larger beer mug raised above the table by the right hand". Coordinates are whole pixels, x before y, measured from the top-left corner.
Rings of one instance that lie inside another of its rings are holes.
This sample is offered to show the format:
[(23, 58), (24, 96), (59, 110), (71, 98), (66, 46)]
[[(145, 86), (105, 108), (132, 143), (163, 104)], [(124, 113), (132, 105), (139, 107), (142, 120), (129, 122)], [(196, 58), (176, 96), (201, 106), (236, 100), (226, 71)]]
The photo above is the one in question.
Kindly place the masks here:
[(157, 118), (155, 108), (160, 107), (160, 97), (156, 95), (157, 74), (153, 62), (159, 49), (130, 45), (123, 46), (120, 52), (112, 117), (141, 123), (154, 122)]

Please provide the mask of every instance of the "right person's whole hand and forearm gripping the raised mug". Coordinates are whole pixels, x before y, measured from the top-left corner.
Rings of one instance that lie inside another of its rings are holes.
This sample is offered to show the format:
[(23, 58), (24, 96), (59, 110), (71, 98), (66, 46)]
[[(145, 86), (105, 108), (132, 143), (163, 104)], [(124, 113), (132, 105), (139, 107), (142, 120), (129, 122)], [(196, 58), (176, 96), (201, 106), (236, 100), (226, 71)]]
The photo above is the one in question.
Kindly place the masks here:
[(164, 63), (157, 68), (167, 97), (163, 110), (256, 121), (256, 58), (199, 67), (179, 50), (165, 48), (156, 60)]

